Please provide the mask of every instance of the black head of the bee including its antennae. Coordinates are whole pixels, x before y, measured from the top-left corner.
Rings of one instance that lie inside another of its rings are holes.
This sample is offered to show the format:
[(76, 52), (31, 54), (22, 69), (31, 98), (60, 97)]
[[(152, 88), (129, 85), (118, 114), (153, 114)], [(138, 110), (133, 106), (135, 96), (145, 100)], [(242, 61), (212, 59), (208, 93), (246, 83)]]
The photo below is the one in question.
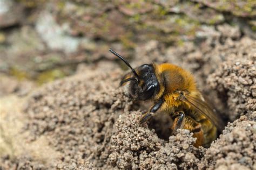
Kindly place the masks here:
[(131, 68), (132, 72), (123, 78), (120, 85), (130, 81), (130, 94), (134, 99), (149, 100), (159, 92), (159, 82), (153, 64), (145, 64), (134, 69), (123, 56), (114, 52), (111, 48), (109, 48), (109, 51), (118, 56), (119, 59)]

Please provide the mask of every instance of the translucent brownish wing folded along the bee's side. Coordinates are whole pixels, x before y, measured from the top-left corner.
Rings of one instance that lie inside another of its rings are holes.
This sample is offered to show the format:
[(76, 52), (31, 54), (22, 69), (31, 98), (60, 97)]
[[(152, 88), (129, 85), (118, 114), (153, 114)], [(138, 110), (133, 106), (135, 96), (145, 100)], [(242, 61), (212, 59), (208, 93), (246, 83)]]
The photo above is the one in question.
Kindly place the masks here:
[(224, 129), (224, 123), (217, 113), (213, 112), (206, 102), (201, 100), (200, 98), (196, 98), (190, 95), (185, 96), (185, 102), (191, 105), (193, 109), (195, 109), (199, 114), (204, 115), (206, 118), (210, 119), (210, 121), (217, 127), (219, 131)]

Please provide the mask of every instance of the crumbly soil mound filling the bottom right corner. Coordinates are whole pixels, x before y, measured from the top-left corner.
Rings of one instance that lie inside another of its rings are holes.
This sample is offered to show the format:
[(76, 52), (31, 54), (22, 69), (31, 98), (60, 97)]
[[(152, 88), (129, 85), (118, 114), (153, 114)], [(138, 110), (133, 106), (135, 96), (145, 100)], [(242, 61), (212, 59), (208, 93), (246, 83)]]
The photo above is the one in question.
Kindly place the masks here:
[(210, 169), (255, 169), (255, 130), (255, 121), (245, 116), (228, 124), (220, 139), (206, 151), (201, 165)]

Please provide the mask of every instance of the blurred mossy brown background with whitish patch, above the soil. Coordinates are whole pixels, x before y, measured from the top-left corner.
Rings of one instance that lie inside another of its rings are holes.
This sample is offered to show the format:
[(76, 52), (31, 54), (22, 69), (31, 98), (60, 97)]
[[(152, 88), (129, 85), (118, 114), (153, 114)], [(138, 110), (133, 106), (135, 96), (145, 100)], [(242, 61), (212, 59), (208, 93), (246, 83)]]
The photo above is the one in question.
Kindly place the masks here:
[(79, 63), (116, 60), (109, 47), (132, 58), (149, 41), (165, 53), (219, 32), (256, 38), (255, 8), (239, 0), (0, 0), (0, 95), (71, 75)]

